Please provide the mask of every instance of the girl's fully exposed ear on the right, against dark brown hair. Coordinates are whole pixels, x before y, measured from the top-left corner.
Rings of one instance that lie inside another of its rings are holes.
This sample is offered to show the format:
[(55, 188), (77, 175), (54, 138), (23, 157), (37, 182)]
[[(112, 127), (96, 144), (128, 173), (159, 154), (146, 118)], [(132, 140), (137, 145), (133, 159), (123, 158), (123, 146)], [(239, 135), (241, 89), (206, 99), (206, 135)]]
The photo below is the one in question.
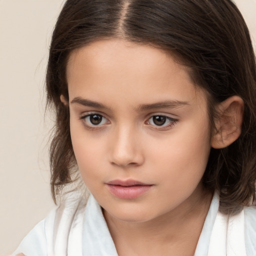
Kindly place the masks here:
[(239, 96), (231, 96), (218, 105), (219, 118), (211, 137), (213, 148), (223, 148), (233, 143), (241, 134), (244, 104)]

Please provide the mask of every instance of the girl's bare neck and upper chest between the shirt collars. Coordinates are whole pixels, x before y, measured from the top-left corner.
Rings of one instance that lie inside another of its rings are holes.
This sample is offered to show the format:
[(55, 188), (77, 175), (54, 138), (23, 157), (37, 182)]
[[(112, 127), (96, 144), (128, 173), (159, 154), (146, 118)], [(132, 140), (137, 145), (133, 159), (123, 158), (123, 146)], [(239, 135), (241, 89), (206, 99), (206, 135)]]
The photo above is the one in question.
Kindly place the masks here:
[(124, 222), (104, 211), (118, 255), (193, 255), (212, 198), (198, 189), (175, 209), (145, 222)]

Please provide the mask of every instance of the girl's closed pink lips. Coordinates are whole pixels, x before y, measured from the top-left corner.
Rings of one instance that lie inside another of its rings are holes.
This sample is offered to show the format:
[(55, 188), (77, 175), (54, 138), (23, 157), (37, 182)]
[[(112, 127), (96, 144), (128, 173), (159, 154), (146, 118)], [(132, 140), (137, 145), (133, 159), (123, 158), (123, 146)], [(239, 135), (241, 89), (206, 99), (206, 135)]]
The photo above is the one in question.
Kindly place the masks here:
[(123, 199), (133, 199), (139, 197), (148, 191), (152, 186), (152, 184), (145, 184), (133, 179), (115, 179), (107, 182), (106, 185), (113, 195)]

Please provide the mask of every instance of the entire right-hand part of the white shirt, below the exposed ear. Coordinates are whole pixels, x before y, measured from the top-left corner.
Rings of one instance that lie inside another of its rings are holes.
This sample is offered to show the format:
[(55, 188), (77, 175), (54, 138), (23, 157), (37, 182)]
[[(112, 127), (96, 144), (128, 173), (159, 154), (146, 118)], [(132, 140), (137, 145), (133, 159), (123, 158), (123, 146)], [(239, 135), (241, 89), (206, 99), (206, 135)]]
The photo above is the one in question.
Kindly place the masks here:
[(256, 207), (244, 207), (235, 215), (227, 215), (218, 210), (218, 205), (215, 194), (197, 244), (197, 254), (255, 256)]

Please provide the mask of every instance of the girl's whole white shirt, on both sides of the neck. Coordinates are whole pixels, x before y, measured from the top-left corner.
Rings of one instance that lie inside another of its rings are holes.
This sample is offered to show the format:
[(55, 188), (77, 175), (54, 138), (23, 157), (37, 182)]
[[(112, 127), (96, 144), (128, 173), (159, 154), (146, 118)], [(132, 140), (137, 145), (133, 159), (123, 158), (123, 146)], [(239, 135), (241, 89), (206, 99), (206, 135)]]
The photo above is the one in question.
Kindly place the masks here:
[[(215, 193), (196, 246), (195, 256), (256, 256), (256, 207), (228, 217), (218, 211)], [(75, 193), (53, 209), (25, 236), (12, 255), (118, 256), (92, 195), (87, 203)]]

